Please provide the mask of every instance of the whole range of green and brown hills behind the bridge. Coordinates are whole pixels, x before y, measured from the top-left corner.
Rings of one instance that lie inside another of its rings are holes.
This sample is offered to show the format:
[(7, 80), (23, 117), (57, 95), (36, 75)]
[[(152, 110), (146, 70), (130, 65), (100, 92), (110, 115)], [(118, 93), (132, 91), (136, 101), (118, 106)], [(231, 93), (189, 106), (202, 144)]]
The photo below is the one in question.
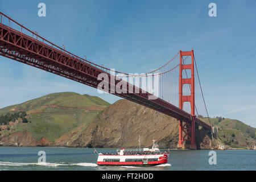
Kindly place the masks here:
[[(208, 122), (208, 118), (203, 118)], [(0, 145), (65, 147), (137, 147), (158, 140), (162, 148), (176, 148), (178, 121), (127, 100), (110, 105), (96, 96), (53, 93), (0, 109)], [(246, 147), (255, 142), (255, 129), (235, 119), (210, 118), (219, 127), (212, 141), (209, 131), (197, 129), (197, 148)]]

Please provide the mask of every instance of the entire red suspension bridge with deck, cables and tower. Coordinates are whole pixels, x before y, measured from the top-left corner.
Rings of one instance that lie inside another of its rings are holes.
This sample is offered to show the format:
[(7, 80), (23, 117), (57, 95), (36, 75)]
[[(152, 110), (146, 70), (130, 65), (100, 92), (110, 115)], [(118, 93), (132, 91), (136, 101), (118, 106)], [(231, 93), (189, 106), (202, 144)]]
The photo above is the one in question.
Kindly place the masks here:
[[(178, 148), (196, 149), (196, 125), (211, 130), (210, 125), (197, 117), (205, 102), (204, 97), (198, 97), (203, 99), (203, 104), (196, 104), (196, 83), (199, 83), (197, 88), (200, 91), (201, 84), (193, 49), (180, 50), (162, 67), (148, 73), (113, 72), (56, 46), (38, 32), (0, 14), (1, 56), (104, 90), (178, 119)], [(206, 106), (204, 109), (207, 111)]]

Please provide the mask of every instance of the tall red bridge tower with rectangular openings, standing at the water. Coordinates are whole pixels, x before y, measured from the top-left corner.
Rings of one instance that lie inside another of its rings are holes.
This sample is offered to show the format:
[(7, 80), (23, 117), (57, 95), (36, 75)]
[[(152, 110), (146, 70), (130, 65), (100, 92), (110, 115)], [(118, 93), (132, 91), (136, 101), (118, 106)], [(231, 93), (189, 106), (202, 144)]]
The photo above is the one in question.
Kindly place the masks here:
[[(191, 56), (191, 64), (183, 63), (183, 56)], [(179, 120), (179, 142), (177, 148), (179, 149), (193, 149), (196, 150), (196, 139), (195, 139), (195, 77), (194, 77), (194, 52), (181, 51), (180, 50), (180, 66), (179, 66), (179, 108), (183, 109), (184, 102), (190, 102), (191, 105), (191, 120), (183, 121)], [(183, 70), (190, 69), (191, 77), (183, 78)], [(191, 88), (190, 96), (183, 95), (183, 85), (189, 84)]]

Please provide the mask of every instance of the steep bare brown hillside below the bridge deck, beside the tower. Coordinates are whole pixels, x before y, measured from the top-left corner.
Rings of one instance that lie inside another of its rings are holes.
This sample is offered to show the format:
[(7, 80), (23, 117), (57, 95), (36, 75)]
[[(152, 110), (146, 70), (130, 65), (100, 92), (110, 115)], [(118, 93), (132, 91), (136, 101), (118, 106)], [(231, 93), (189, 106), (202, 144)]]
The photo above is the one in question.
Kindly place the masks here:
[[(203, 129), (201, 129), (203, 131)], [(55, 140), (55, 146), (137, 147), (141, 135), (143, 147), (158, 141), (160, 148), (176, 148), (178, 121), (162, 113), (127, 100), (119, 100), (98, 115), (89, 126), (80, 126)], [(197, 135), (198, 148), (210, 148), (206, 131)]]

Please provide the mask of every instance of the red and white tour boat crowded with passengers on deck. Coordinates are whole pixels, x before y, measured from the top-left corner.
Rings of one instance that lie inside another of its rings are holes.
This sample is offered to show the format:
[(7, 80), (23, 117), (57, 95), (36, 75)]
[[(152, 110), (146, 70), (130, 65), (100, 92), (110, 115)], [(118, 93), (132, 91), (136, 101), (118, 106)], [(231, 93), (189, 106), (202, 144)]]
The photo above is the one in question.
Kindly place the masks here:
[(125, 150), (121, 148), (117, 152), (105, 152), (98, 154), (98, 165), (112, 165), (112, 166), (155, 166), (165, 164), (168, 162), (170, 152), (160, 151), (158, 144), (153, 140), (152, 148), (141, 147), (136, 150)]

